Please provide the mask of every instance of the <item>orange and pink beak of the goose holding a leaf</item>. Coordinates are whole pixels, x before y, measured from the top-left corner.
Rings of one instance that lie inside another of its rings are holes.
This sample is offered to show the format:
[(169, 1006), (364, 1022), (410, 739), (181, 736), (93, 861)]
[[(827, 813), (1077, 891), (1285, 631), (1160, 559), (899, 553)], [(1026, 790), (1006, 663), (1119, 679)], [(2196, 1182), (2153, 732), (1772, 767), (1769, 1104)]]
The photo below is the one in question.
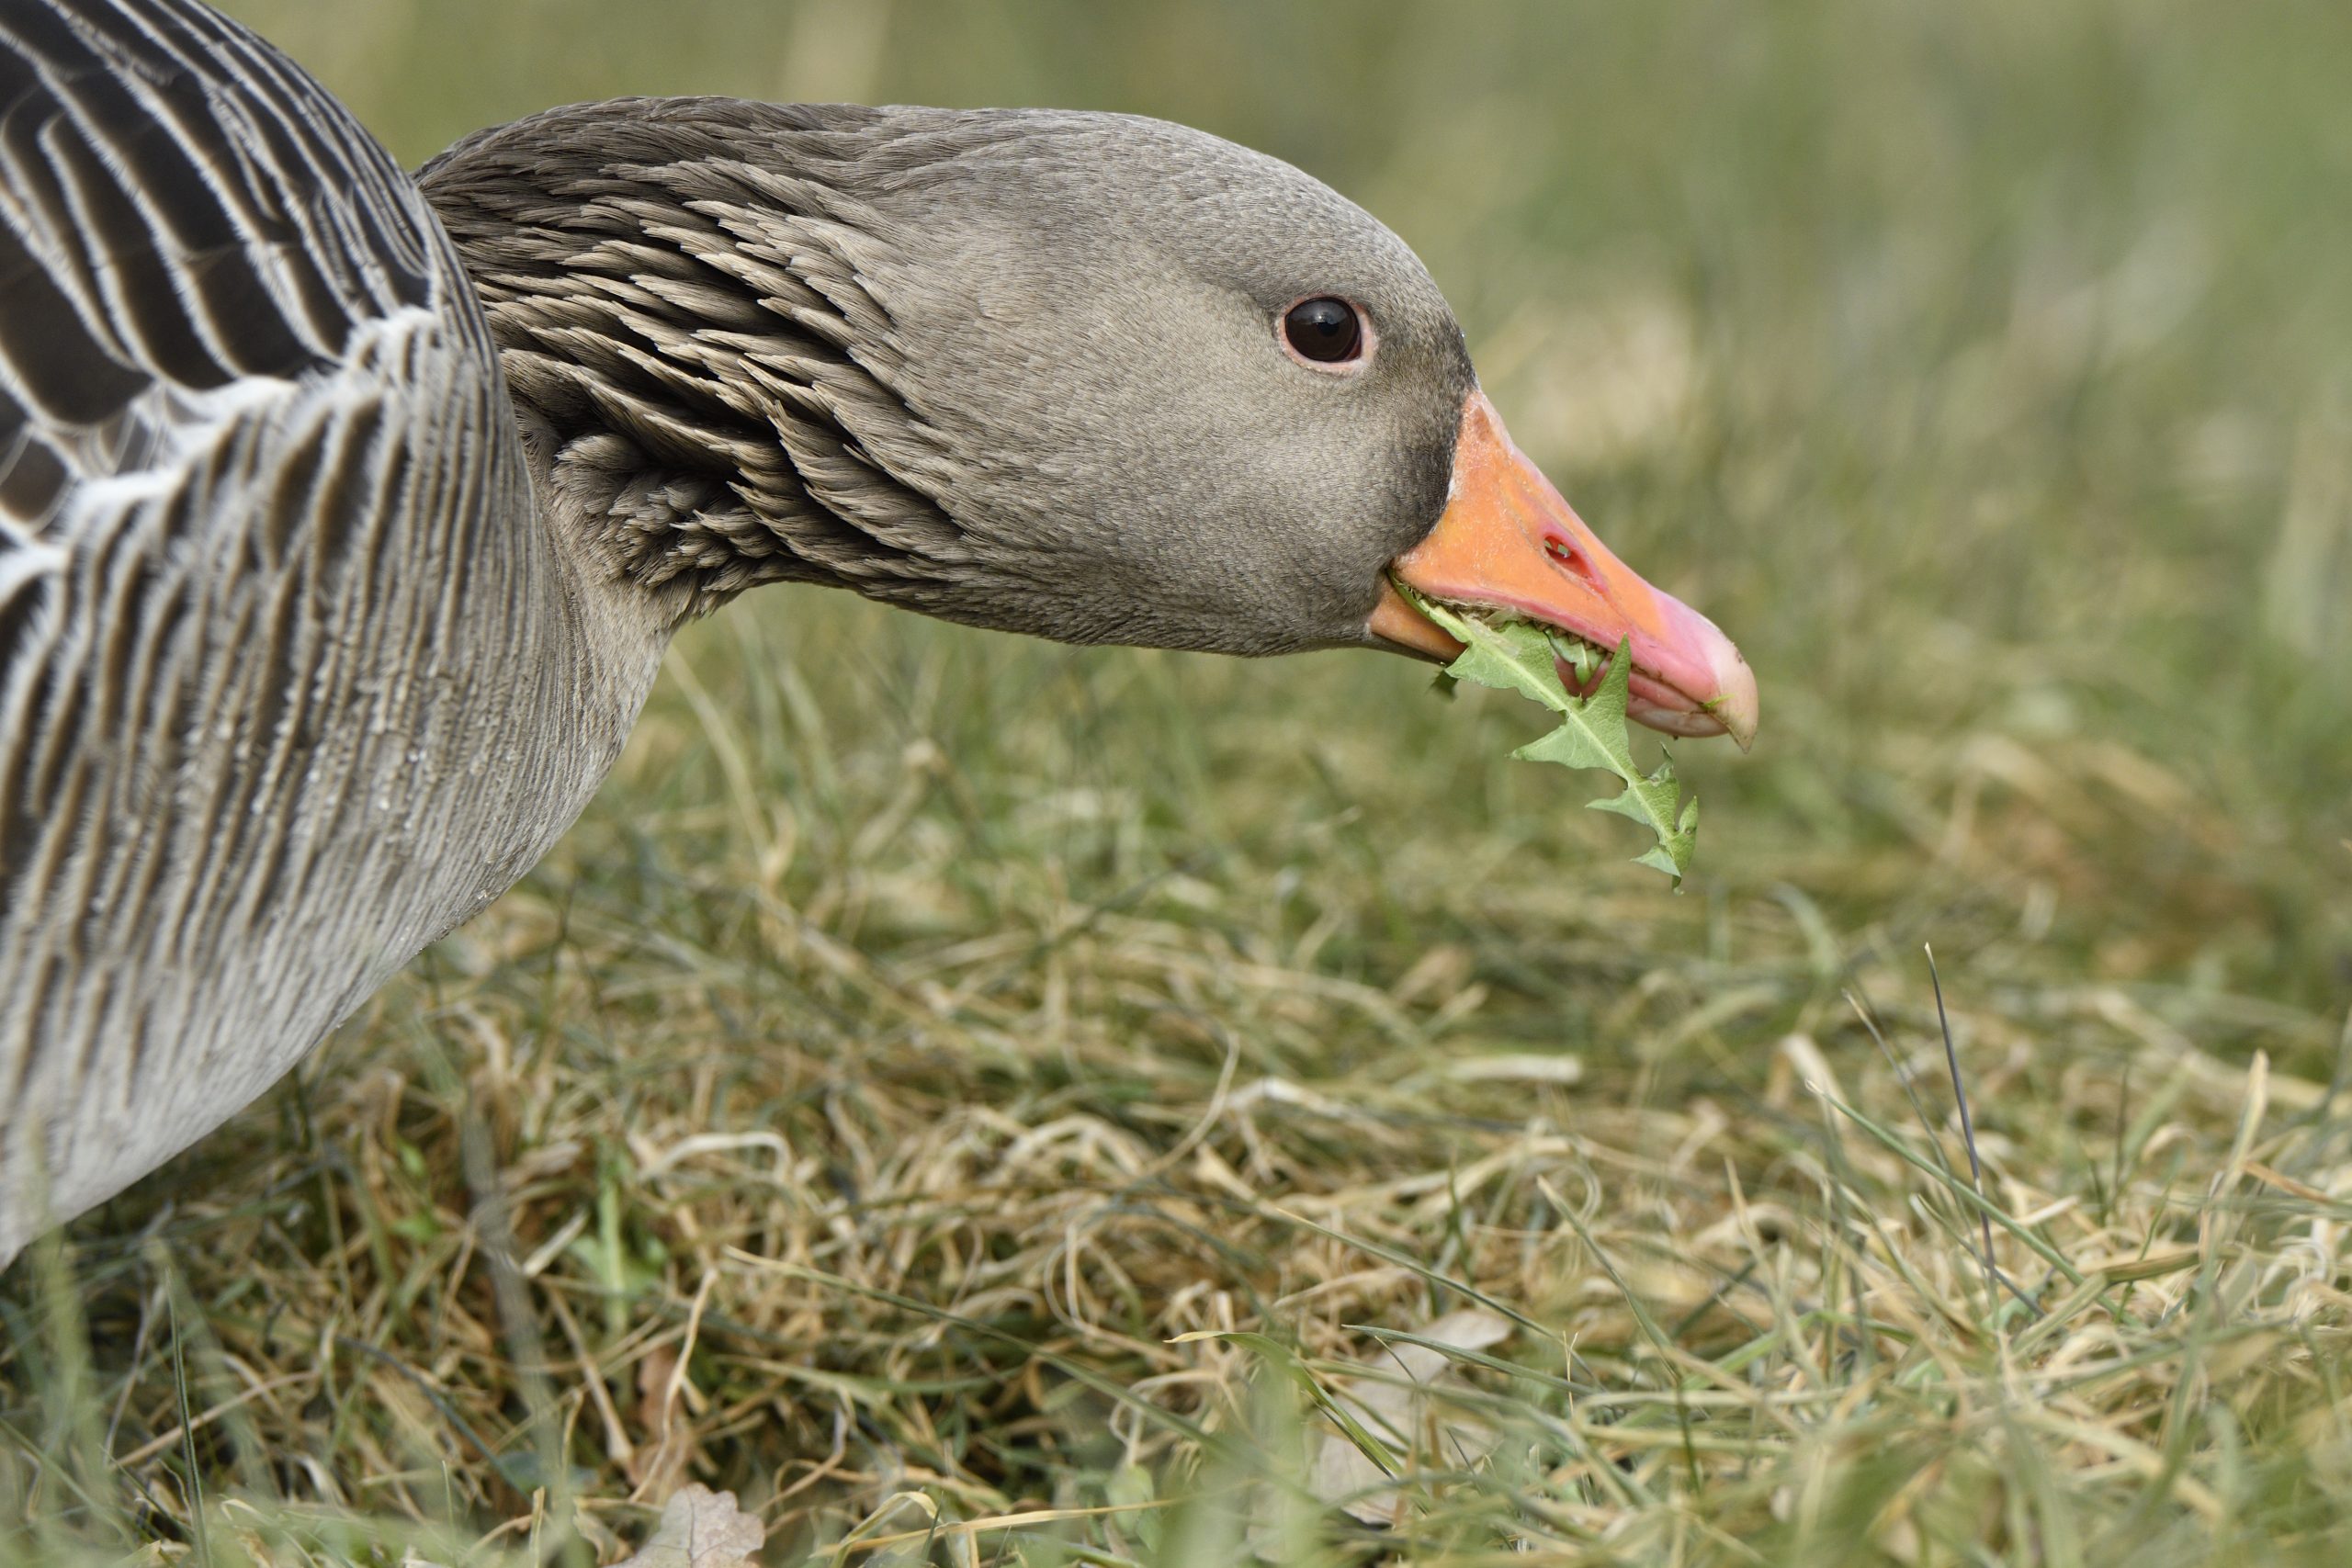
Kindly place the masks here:
[[(1755, 741), (1757, 677), (1740, 651), (1712, 621), (1644, 583), (1595, 538), (1510, 444), (1486, 393), (1470, 393), (1463, 404), (1444, 515), (1390, 571), (1432, 599), (1505, 609), (1604, 654), (1628, 642), (1628, 717), (1670, 736), (1731, 736), (1740, 750)], [(1461, 654), (1388, 581), (1364, 630), (1430, 658)], [(1576, 689), (1571, 670), (1562, 668), (1562, 679)]]

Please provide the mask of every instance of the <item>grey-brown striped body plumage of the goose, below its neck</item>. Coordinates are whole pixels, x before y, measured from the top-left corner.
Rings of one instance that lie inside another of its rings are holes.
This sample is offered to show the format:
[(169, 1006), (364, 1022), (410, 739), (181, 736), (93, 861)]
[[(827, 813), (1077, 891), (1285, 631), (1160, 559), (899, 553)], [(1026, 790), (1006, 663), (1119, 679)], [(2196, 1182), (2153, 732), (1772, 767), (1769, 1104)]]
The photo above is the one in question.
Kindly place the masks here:
[(659, 656), (595, 614), (367, 132), (191, 0), (0, 0), (0, 1265), (569, 825)]

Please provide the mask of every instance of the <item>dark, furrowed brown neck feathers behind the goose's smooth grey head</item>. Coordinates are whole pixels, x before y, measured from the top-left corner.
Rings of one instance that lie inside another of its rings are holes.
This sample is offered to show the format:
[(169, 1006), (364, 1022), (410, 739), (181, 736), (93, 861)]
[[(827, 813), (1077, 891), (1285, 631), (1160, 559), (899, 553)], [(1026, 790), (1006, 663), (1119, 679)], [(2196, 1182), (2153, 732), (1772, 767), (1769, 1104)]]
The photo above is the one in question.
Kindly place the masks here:
[[(746, 113), (776, 120), (757, 165)], [(419, 176), (560, 543), (675, 618), (774, 581), (953, 614), (971, 574), (870, 280), (887, 240), (842, 188), (873, 132), (873, 110), (597, 103), (470, 136)]]

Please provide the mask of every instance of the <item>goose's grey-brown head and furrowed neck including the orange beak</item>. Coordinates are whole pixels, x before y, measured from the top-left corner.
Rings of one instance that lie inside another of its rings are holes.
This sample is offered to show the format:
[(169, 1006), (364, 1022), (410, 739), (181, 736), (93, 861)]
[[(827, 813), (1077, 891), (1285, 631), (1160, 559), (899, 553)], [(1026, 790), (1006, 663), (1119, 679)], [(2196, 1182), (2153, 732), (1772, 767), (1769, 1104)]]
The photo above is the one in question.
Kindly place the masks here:
[(1458, 651), (1397, 583), (1755, 677), (1512, 444), (1414, 252), (1308, 174), (1061, 110), (590, 103), (421, 174), (541, 498), (680, 618), (821, 581), (1063, 642)]

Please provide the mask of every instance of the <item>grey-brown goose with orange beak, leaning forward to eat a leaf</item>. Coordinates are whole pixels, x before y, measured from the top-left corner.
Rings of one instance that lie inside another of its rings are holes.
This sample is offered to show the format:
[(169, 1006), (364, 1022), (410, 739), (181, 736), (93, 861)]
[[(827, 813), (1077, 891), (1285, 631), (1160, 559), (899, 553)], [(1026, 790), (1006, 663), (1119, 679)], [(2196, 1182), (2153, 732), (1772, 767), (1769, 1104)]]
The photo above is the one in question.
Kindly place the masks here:
[(412, 179), (198, 0), (0, 0), (0, 1265), (522, 877), (670, 635), (774, 583), (1454, 656), (1406, 583), (1623, 639), (1663, 731), (1757, 722), (1279, 160), (621, 99)]

